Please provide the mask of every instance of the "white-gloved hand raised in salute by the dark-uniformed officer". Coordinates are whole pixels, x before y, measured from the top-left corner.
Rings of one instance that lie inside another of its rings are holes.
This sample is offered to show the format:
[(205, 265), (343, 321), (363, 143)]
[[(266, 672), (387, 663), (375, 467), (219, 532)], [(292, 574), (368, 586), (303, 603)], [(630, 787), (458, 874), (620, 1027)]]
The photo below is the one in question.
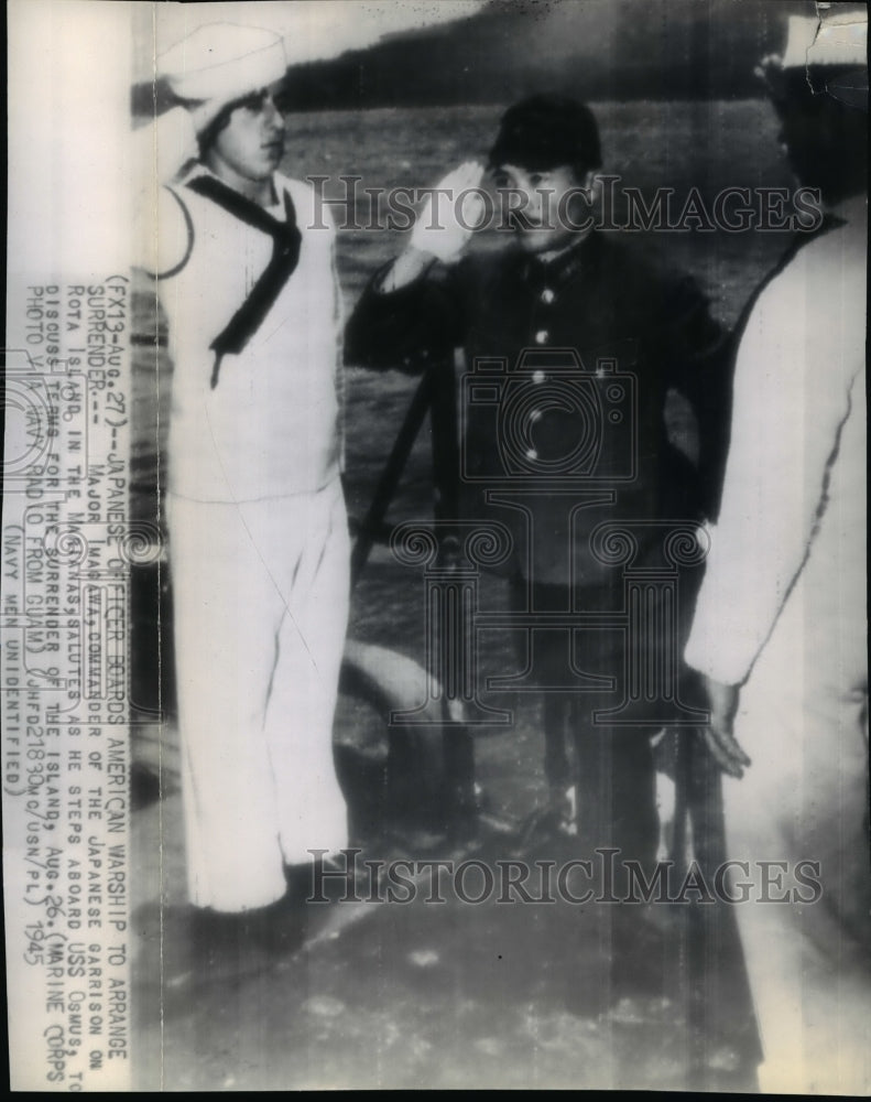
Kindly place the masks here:
[(411, 247), (443, 261), (458, 256), (481, 224), (485, 202), (473, 188), (480, 187), (482, 177), (482, 164), (465, 161), (429, 188), (412, 230)]

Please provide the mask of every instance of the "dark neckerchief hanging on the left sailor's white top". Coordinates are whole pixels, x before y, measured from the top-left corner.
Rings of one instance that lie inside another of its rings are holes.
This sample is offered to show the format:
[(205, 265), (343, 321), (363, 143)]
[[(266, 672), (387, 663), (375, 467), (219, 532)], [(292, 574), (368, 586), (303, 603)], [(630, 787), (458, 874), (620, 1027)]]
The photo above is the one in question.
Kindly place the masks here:
[(279, 222), (259, 204), (240, 195), (215, 176), (196, 176), (188, 181), (186, 186), (272, 238), (272, 258), (263, 269), (262, 276), (251, 288), (248, 298), (236, 311), (226, 328), (209, 345), (215, 353), (215, 366), (211, 369), (214, 390), (218, 385), (224, 356), (227, 353), (238, 355), (244, 348), (295, 271), (300, 262), (302, 234), (296, 225), (293, 199), (286, 191), (284, 192), (286, 220)]

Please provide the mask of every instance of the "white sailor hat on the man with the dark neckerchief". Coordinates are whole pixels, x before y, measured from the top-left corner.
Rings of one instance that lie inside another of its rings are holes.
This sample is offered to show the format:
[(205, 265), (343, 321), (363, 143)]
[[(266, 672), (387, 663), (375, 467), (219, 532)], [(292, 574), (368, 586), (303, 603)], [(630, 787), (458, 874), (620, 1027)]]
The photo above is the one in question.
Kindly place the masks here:
[(287, 57), (280, 34), (257, 26), (209, 23), (157, 58), (157, 74), (181, 99), (230, 102), (280, 80)]

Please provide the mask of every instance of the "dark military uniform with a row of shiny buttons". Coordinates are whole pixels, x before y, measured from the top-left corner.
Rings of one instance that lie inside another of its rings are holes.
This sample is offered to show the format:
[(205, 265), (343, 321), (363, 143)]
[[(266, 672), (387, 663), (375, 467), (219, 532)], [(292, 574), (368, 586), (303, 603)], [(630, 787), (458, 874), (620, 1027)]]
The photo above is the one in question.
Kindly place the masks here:
[[(716, 355), (721, 332), (693, 280), (657, 271), (599, 233), (549, 263), (508, 249), (434, 264), (389, 293), (379, 292), (379, 277), (350, 318), (346, 358), (415, 371), (464, 348), (472, 375), (462, 398), (462, 499), (468, 515), (499, 520), (514, 537), (515, 608), (619, 609), (623, 570), (597, 549), (599, 526), (628, 525), (633, 569), (655, 570), (658, 522), (700, 519), (718, 483), (728, 389)], [(697, 434), (685, 431), (693, 421)], [(544, 683), (566, 667), (564, 639), (547, 635), (536, 640)], [(546, 766), (554, 787), (579, 781), (585, 846), (612, 843), (652, 861), (651, 732), (592, 721), (596, 707), (620, 699), (625, 640), (617, 628), (575, 633), (569, 666), (616, 681), (616, 693), (545, 694)], [(677, 640), (664, 642), (679, 652)]]

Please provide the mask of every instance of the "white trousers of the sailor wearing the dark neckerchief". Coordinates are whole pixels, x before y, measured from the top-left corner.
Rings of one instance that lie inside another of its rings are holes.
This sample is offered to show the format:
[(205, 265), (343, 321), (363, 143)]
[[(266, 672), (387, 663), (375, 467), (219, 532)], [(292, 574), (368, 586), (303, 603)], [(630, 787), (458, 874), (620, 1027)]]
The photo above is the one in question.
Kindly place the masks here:
[(348, 619), (339, 479), (241, 503), (167, 496), (188, 888), (240, 911), (347, 845), (333, 720)]

